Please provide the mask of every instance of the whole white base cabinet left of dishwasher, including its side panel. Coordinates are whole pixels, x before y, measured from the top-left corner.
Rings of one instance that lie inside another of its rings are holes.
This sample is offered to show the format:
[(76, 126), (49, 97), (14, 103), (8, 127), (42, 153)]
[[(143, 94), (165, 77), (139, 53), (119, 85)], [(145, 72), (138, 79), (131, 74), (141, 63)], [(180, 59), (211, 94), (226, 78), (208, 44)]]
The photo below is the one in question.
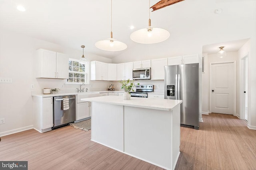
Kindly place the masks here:
[(39, 132), (52, 130), (53, 127), (53, 98), (33, 96), (33, 125)]

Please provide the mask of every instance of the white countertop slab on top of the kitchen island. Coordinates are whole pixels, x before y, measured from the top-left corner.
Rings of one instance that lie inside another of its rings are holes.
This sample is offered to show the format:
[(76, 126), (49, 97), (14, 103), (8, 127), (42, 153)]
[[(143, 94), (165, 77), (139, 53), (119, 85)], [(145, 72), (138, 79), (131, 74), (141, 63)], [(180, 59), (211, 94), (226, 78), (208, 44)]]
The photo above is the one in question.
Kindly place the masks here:
[(182, 100), (156, 99), (156, 98), (136, 98), (123, 100), (123, 96), (101, 96), (94, 98), (84, 98), (83, 101), (98, 102), (105, 104), (115, 104), (131, 107), (142, 107), (147, 109), (157, 109), (171, 111), (175, 106), (182, 103)]

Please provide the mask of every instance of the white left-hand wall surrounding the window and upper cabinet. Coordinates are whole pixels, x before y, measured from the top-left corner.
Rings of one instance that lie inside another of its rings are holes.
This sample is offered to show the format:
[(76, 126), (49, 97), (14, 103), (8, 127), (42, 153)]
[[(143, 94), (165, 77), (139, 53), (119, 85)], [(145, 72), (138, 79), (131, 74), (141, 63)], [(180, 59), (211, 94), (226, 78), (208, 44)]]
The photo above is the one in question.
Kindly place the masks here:
[[(34, 39), (18, 33), (0, 30), (0, 77), (12, 78), (12, 83), (0, 83), (0, 118), (5, 118), (5, 124), (0, 125), (0, 136), (30, 129), (32, 124), (32, 90), (30, 84), (35, 85), (33, 92), (42, 92), (45, 87), (60, 88), (61, 92), (76, 91), (76, 86), (65, 85), (66, 80), (35, 78), (33, 59), (36, 49), (48, 49), (67, 54), (70, 58), (80, 59), (81, 50), (68, 49), (60, 45)], [(111, 63), (111, 59), (87, 54), (86, 58), (106, 63)], [(95, 88), (104, 89), (109, 82), (90, 82), (90, 90)], [(102, 84), (102, 85), (101, 85)], [(102, 88), (101, 88), (102, 87)]]

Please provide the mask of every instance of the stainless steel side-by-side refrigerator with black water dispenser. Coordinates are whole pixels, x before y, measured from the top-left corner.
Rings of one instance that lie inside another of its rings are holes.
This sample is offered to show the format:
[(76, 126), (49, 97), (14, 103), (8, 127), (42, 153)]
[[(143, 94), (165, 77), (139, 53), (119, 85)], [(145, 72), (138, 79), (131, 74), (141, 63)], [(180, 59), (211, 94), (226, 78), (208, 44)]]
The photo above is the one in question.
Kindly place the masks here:
[(199, 64), (164, 66), (164, 98), (183, 100), (180, 124), (199, 128)]

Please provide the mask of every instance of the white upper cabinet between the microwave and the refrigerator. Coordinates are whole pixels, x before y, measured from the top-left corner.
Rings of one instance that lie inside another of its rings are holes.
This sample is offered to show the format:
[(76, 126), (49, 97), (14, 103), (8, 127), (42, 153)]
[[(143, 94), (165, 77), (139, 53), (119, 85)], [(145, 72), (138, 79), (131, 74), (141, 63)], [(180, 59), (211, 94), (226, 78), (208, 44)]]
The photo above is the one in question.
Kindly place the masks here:
[(164, 66), (167, 65), (167, 58), (151, 60), (151, 80), (164, 80)]

